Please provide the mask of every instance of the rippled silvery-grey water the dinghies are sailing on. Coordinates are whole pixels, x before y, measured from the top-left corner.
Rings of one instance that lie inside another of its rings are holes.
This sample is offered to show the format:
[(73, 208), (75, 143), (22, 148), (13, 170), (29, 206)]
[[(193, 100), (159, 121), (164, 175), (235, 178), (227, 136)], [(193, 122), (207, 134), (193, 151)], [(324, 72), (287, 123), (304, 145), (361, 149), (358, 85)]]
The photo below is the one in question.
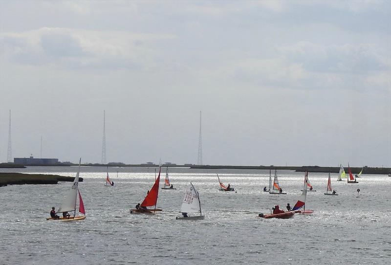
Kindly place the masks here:
[[(2, 169), (75, 176), (76, 167)], [(118, 173), (118, 177), (117, 175)], [(216, 172), (238, 193), (218, 191)], [(70, 182), (0, 188), (0, 264), (390, 264), (391, 177), (363, 175), (358, 184), (336, 181), (339, 196), (325, 196), (327, 174), (309, 173), (312, 216), (260, 219), (271, 207), (294, 205), (304, 173), (279, 171), (287, 195), (262, 192), (261, 170), (170, 169), (178, 190), (160, 190), (154, 216), (130, 215), (154, 181), (154, 168), (109, 168), (115, 187), (105, 187), (106, 168), (82, 167), (79, 184), (85, 221), (46, 221)], [(164, 173), (162, 173), (161, 184)], [(184, 189), (199, 191), (203, 221), (177, 221)], [(357, 188), (361, 192), (357, 197)]]

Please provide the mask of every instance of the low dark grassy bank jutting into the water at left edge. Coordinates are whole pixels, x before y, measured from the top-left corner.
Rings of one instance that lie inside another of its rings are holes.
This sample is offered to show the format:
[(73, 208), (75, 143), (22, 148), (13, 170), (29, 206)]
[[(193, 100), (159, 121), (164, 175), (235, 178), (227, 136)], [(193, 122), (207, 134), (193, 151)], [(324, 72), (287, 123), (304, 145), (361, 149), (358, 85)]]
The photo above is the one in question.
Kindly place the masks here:
[[(72, 182), (74, 179), (75, 177), (64, 177), (59, 175), (0, 173), (0, 187), (23, 184), (57, 184), (58, 181)], [(79, 177), (79, 181), (82, 182), (83, 178)]]

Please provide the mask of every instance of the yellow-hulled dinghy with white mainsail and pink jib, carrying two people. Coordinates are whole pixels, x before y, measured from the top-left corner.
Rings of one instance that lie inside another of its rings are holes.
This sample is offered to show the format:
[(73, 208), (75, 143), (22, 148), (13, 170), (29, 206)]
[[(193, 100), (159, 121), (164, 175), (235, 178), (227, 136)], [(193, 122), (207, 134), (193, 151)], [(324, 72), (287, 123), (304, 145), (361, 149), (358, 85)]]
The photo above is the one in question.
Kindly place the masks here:
[[(76, 177), (73, 180), (71, 189), (68, 191), (65, 200), (61, 204), (61, 207), (58, 209), (57, 213), (66, 213), (73, 212), (73, 216), (60, 217), (59, 219), (54, 219), (52, 217), (46, 218), (46, 220), (55, 220), (55, 221), (80, 221), (86, 219), (86, 210), (84, 209), (84, 203), (82, 196), (79, 191), (79, 173), (80, 173), (80, 164), (82, 158), (79, 160), (79, 168), (76, 173)], [(79, 196), (78, 196), (79, 195)], [(79, 197), (79, 212), (83, 215), (76, 216), (76, 206), (77, 206), (77, 197)]]

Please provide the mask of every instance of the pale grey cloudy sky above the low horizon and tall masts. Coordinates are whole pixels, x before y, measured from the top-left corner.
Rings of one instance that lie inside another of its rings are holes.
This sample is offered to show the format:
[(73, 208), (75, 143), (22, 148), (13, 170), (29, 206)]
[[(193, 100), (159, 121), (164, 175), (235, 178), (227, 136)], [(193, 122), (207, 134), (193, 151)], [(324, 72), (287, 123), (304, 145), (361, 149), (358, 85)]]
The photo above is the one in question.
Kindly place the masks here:
[(0, 161), (391, 166), (391, 1), (0, 1)]

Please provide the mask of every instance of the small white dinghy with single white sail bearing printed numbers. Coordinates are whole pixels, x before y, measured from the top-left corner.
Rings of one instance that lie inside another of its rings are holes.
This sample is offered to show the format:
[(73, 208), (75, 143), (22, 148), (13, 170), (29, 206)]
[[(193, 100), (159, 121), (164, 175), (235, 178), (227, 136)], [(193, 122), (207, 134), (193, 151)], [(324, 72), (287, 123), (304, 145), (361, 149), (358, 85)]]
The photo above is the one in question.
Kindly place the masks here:
[[(182, 216), (177, 216), (176, 220), (203, 220), (205, 218), (201, 212), (201, 202), (199, 201), (198, 192), (195, 190), (192, 182), (190, 182), (190, 186), (186, 190), (182, 206), (180, 207), (180, 213), (182, 213)], [(199, 213), (199, 215), (187, 216), (188, 213)]]

